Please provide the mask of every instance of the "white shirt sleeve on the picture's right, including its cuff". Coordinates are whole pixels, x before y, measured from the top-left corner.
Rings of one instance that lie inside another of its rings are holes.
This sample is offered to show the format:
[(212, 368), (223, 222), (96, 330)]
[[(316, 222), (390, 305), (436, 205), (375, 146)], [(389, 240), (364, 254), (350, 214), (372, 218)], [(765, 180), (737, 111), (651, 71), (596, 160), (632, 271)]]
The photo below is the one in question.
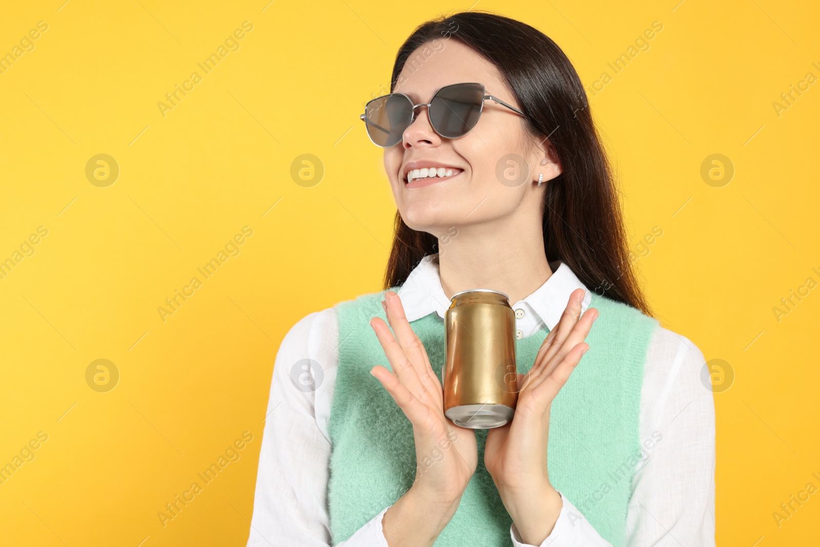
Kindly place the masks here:
[[(658, 327), (647, 353), (641, 387), (640, 442), (626, 513), (626, 547), (715, 545), (715, 426), (711, 387), (701, 381), (704, 356), (686, 337)], [(563, 507), (538, 547), (610, 545), (572, 503)], [(522, 543), (511, 526), (514, 547)]]

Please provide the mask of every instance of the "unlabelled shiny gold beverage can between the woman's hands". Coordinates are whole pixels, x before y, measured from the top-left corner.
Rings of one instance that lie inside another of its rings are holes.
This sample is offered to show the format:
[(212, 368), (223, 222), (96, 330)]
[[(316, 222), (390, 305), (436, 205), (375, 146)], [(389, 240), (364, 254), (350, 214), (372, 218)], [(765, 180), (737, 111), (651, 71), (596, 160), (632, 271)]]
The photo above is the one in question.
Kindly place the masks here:
[(444, 415), (457, 426), (503, 426), (518, 400), (515, 312), (498, 290), (453, 294), (444, 314)]

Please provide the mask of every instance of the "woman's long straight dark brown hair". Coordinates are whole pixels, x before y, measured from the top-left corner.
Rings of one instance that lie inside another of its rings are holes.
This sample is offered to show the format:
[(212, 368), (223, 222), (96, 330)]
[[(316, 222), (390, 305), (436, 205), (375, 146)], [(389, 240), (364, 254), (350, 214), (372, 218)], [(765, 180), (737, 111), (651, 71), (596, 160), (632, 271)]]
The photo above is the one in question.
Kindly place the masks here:
[[(440, 16), (419, 25), (399, 48), (391, 93), (412, 53), (442, 37), (458, 39), (493, 63), (526, 113), (527, 132), (538, 140), (546, 136), (555, 146), (563, 172), (544, 191), (547, 260), (562, 260), (597, 294), (651, 316), (629, 259), (612, 167), (567, 56), (552, 39), (521, 21), (487, 11)], [(421, 258), (438, 252), (435, 235), (412, 230), (398, 211), (394, 228), (385, 289), (402, 285)]]

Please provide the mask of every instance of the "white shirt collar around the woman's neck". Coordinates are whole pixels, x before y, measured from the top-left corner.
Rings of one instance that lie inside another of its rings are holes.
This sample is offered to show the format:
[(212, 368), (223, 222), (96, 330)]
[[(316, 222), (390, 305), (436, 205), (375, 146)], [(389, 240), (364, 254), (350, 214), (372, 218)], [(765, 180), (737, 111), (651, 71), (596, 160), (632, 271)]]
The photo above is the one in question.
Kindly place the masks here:
[[(590, 306), (592, 293), (563, 261), (549, 262), (549, 268), (553, 275), (544, 281), (544, 285), (535, 289), (535, 292), (525, 299), (512, 303), (512, 308), (527, 306), (535, 312), (539, 321), (543, 321), (549, 330), (553, 330), (561, 319), (564, 308), (567, 308), (569, 295), (573, 290), (584, 289), (581, 312), (585, 312)], [(408, 321), (416, 321), (432, 312), (444, 318), (444, 313), (450, 306), (450, 299), (441, 288), (439, 255), (428, 254), (421, 258), (421, 262), (412, 269), (396, 294), (402, 299)]]

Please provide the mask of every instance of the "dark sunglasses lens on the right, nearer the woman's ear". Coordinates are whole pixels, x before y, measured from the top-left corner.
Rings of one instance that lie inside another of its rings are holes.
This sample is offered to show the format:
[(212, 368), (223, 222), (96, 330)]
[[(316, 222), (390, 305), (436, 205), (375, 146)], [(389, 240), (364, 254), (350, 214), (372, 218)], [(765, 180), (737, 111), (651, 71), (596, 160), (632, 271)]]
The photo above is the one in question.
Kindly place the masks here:
[(430, 124), (442, 137), (457, 139), (476, 126), (483, 100), (480, 84), (443, 87), (430, 103)]

